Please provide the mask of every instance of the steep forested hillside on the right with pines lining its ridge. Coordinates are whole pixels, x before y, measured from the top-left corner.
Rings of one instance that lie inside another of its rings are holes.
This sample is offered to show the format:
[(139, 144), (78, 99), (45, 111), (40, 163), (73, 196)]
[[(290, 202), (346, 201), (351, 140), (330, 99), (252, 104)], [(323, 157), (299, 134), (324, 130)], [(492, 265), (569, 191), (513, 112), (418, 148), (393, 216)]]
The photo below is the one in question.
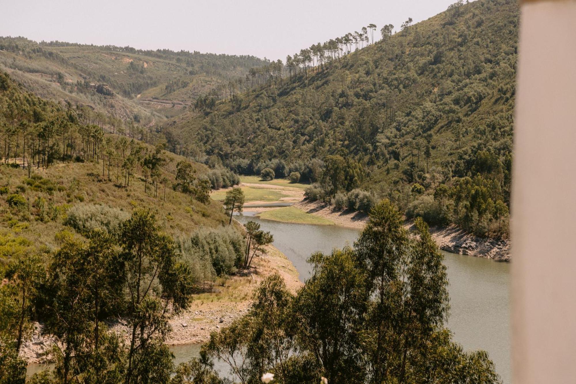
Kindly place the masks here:
[(298, 172), (320, 183), (311, 198), (346, 206), (361, 188), (365, 204), (348, 206), (388, 197), (432, 224), (506, 235), (518, 15), (513, 0), (458, 2), (373, 44), (369, 26), (272, 62), (259, 88), (162, 131), (206, 164)]

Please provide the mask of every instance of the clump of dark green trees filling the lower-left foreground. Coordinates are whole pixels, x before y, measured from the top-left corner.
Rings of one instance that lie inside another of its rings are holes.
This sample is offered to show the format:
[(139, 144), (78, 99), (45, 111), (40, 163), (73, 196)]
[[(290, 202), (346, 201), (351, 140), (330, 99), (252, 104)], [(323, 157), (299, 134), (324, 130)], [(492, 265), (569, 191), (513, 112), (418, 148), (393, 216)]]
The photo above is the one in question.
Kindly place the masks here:
[[(70, 235), (60, 241), (46, 268), (33, 254), (7, 266), (0, 287), (2, 382), (25, 380), (17, 353), (32, 318), (56, 341), (54, 369), (32, 381), (169, 382), (168, 321), (187, 308), (194, 282), (154, 213), (136, 209), (115, 235), (95, 229), (88, 240)], [(110, 318), (122, 319), (126, 342), (107, 329)]]

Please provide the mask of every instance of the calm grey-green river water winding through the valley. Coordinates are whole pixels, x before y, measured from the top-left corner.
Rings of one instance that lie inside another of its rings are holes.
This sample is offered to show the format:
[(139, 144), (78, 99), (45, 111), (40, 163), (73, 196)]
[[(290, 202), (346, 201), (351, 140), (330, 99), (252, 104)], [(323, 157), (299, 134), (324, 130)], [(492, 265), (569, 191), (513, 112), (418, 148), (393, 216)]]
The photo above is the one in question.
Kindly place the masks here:
[[(359, 234), (358, 229), (282, 223), (260, 219), (254, 214), (244, 212), (237, 219), (243, 224), (248, 220), (257, 221), (264, 231), (270, 231), (274, 235), (274, 246), (290, 259), (302, 281), (310, 276), (311, 268), (306, 262), (310, 254), (352, 245)], [(487, 351), (502, 381), (511, 383), (509, 263), (443, 253), (450, 282), (448, 328), (454, 333), (454, 340), (466, 351)], [(175, 355), (175, 364), (179, 364), (198, 356), (200, 345), (175, 345), (170, 349)], [(29, 366), (29, 374), (41, 368), (43, 364), (33, 364)], [(215, 362), (215, 368), (223, 377), (228, 376), (229, 367), (225, 363)]]

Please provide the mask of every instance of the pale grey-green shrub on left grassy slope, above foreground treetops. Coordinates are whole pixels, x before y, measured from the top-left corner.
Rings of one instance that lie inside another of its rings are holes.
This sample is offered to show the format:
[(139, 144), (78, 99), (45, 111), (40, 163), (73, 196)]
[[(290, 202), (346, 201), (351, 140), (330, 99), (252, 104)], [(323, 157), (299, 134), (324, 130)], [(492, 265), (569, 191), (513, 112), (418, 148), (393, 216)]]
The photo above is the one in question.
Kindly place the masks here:
[(119, 235), (124, 221), (130, 219), (130, 213), (118, 208), (96, 204), (78, 204), (68, 210), (64, 224), (76, 229), (82, 235), (89, 236), (96, 229), (111, 235)]

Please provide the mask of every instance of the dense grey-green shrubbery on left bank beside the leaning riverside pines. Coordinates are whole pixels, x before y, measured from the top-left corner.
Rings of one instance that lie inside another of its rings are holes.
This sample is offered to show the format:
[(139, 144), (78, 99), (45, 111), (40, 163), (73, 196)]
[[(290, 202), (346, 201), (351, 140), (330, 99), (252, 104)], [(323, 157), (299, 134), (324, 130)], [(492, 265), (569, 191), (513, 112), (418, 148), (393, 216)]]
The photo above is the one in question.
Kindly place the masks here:
[(176, 244), (196, 283), (233, 274), (244, 260), (244, 239), (230, 227), (200, 228), (191, 236), (180, 236)]

